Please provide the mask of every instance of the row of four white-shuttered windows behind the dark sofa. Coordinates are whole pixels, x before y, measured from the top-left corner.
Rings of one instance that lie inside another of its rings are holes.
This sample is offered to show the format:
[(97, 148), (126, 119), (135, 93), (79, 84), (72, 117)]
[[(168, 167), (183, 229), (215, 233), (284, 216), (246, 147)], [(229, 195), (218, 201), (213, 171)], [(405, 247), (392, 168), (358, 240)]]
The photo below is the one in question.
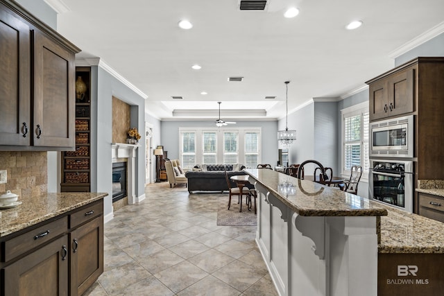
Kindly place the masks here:
[(261, 128), (179, 128), (182, 167), (244, 164), (256, 168), (262, 161), (261, 132)]

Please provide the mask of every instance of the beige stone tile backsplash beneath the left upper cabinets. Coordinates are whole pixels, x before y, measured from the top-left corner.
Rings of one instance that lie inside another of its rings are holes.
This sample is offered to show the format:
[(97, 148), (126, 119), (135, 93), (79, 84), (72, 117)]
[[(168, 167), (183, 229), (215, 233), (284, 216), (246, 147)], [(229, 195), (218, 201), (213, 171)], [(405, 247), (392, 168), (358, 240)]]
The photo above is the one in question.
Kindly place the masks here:
[(22, 197), (48, 191), (46, 151), (0, 151), (0, 170), (8, 173), (8, 182), (0, 184), (0, 195), (7, 190)]

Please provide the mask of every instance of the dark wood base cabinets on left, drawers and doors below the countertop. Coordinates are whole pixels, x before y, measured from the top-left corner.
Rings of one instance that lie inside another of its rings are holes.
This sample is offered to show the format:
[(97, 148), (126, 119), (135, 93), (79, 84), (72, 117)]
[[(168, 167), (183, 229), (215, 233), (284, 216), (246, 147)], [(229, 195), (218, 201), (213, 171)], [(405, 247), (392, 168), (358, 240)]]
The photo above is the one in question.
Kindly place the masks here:
[(103, 200), (0, 238), (0, 295), (82, 295), (103, 272)]

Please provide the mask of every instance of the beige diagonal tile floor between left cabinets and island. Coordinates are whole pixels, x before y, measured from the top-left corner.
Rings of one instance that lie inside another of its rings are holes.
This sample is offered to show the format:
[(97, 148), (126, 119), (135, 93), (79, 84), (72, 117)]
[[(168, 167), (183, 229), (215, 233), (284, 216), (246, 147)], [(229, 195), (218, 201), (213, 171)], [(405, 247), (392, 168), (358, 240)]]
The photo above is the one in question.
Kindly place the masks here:
[(218, 226), (228, 193), (167, 182), (105, 224), (104, 265), (84, 295), (278, 295), (255, 243), (255, 226)]

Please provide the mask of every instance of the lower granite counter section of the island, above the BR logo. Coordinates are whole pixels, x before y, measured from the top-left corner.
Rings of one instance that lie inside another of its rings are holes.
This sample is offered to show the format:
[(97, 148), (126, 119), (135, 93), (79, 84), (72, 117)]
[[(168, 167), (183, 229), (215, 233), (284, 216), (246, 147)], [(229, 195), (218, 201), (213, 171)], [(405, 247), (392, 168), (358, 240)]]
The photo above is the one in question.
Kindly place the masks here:
[(384, 206), (379, 253), (444, 253), (444, 223)]

